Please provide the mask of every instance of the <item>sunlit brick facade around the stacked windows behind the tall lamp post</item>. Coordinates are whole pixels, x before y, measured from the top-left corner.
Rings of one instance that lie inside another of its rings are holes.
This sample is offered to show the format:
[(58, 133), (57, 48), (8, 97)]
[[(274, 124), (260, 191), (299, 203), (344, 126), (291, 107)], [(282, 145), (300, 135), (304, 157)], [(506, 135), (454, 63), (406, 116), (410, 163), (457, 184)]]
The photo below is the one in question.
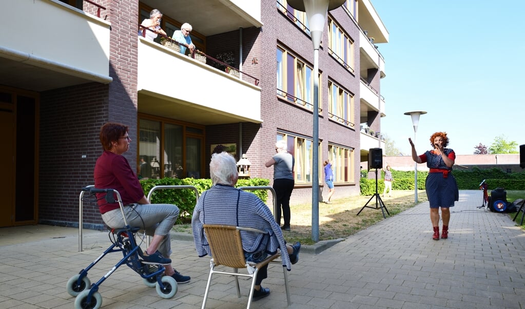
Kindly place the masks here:
[[(319, 71), (321, 73), (319, 89), (321, 101), (319, 107), (323, 110), (319, 118), (319, 140), (322, 142), (319, 159), (322, 161), (328, 157), (328, 143), (336, 143), (354, 147), (354, 161), (359, 163), (359, 129), (348, 129), (328, 119), (328, 80), (330, 78), (355, 95), (354, 123), (359, 128), (359, 29), (342, 8), (331, 11), (330, 14), (356, 42), (354, 45), (355, 75), (346, 70), (328, 54), (328, 29), (325, 28), (321, 43), (322, 47), (319, 50)], [(264, 26), (258, 38), (261, 42), (261, 56), (258, 57), (258, 60), (259, 66), (264, 72), (275, 72), (277, 70), (275, 61), (277, 44), (285, 47), (289, 52), (292, 52), (313, 67), (313, 47), (310, 37), (285, 15), (278, 12), (275, 1), (262, 2), (261, 19)], [(261, 109), (264, 110), (262, 115), (264, 122), (258, 132), (257, 139), (261, 141), (258, 144), (261, 147), (259, 149), (261, 156), (259, 164), (262, 164), (263, 167), (264, 163), (275, 154), (275, 149), (272, 146), (276, 140), (276, 132), (278, 130), (285, 130), (310, 138), (313, 131), (312, 113), (279, 100), (276, 96), (276, 84), (275, 74), (261, 75)], [(272, 142), (270, 143), (269, 141)], [(252, 171), (254, 171), (253, 167)], [(273, 170), (264, 168), (261, 170), (260, 175), (271, 179)], [(319, 168), (319, 176), (321, 177), (319, 183), (323, 186), (324, 173), (322, 165)], [(354, 179), (359, 184), (359, 169), (355, 169)], [(358, 184), (338, 187), (337, 196), (359, 194)], [(292, 202), (311, 201), (311, 190), (311, 186), (297, 184), (292, 193)]]

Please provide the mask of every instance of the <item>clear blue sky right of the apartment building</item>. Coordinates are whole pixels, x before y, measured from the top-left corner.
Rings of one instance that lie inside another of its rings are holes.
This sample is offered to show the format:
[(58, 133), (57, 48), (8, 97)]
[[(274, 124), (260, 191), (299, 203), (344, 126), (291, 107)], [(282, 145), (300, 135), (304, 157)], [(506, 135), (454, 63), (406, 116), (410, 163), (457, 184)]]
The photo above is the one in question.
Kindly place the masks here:
[[(390, 33), (377, 44), (386, 117), (381, 132), (404, 154), (414, 137), (410, 116), (427, 111), (416, 150), (446, 131), (448, 148), (472, 154), (495, 137), (525, 144), (525, 1), (371, 0)], [(519, 147), (516, 148), (519, 151)]]

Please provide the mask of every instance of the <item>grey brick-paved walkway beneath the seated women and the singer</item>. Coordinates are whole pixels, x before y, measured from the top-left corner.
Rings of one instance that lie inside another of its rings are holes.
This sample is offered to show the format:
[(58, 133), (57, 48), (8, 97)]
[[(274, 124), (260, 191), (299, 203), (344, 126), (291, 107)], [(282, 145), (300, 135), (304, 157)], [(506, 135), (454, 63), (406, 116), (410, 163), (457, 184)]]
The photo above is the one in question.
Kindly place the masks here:
[[(425, 202), (320, 254), (301, 251), (289, 273), (290, 308), (525, 308), (525, 231), (507, 214), (478, 209), (480, 194), (460, 191), (447, 240), (432, 240)], [(108, 244), (107, 232), (84, 230), (84, 251), (78, 252), (78, 229), (0, 229), (0, 308), (74, 307), (66, 282)], [(172, 246), (178, 249), (174, 265), (192, 276), (190, 283), (165, 300), (123, 266), (100, 286), (102, 308), (199, 308), (209, 259), (198, 258), (190, 241)], [(92, 282), (121, 256), (113, 255), (90, 271)], [(286, 307), (282, 283), (281, 267), (270, 266), (263, 285), (271, 294), (252, 307)], [(243, 296), (237, 298), (232, 279), (216, 275), (207, 307), (246, 307), (248, 286), (241, 282)]]

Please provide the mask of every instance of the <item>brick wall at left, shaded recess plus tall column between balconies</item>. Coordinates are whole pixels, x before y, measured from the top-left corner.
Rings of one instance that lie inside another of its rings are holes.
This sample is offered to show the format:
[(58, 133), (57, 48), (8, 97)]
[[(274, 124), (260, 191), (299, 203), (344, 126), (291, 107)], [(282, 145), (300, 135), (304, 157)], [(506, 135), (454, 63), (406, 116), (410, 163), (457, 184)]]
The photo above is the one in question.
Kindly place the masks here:
[[(109, 75), (113, 81), (41, 94), (40, 222), (76, 226), (80, 189), (93, 184), (93, 168), (102, 151), (98, 134), (103, 123), (124, 123), (130, 136), (137, 135), (138, 1), (107, 0), (99, 4), (106, 7), (102, 18), (111, 23)], [(86, 9), (92, 13), (92, 7)], [(124, 157), (136, 166), (136, 142)], [(98, 208), (86, 205), (83, 222), (100, 228)]]

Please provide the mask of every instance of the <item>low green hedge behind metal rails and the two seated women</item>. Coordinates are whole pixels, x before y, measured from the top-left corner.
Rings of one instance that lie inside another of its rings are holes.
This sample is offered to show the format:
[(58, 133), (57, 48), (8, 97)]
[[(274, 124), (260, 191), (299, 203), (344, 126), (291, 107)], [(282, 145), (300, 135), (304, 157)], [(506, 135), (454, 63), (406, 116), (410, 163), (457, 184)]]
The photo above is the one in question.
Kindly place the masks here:
[[(150, 190), (155, 186), (193, 186), (197, 188), (199, 196), (212, 187), (211, 179), (194, 179), (194, 178), (162, 178), (162, 179), (141, 179), (139, 180), (148, 196)], [(262, 178), (239, 179), (236, 187), (266, 187), (270, 181)], [(261, 200), (266, 201), (268, 198), (267, 190), (254, 190), (253, 192)], [(177, 223), (190, 223), (192, 220), (193, 209), (195, 208), (195, 191), (193, 189), (161, 189), (153, 192), (151, 202), (155, 204), (175, 204), (180, 210)]]

